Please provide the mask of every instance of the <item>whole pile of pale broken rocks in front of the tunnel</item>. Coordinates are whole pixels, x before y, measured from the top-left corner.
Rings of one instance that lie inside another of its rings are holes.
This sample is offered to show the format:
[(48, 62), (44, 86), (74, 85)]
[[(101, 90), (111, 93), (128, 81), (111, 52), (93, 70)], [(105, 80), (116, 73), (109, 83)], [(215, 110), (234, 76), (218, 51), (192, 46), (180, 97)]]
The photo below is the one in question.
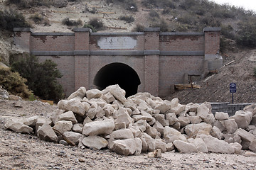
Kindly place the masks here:
[(138, 93), (125, 98), (118, 85), (100, 91), (80, 87), (47, 116), (9, 120), (6, 128), (35, 132), (41, 140), (102, 149), (123, 155), (178, 151), (256, 152), (256, 104), (232, 117), (211, 113), (210, 103), (181, 105)]

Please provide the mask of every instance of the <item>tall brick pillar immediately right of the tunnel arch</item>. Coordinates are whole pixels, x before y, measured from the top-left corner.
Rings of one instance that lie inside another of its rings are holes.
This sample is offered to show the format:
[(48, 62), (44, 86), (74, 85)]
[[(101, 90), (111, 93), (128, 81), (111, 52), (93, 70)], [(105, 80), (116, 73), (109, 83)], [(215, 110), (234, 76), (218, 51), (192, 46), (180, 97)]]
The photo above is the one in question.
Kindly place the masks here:
[(159, 32), (160, 28), (144, 30), (144, 91), (154, 96), (159, 96)]

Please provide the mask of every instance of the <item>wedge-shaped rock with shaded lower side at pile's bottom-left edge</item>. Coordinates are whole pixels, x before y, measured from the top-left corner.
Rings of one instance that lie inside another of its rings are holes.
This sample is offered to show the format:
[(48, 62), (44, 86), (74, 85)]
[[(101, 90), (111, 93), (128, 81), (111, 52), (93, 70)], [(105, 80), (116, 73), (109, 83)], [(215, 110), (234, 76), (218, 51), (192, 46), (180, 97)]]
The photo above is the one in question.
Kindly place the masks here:
[(57, 142), (58, 136), (53, 131), (53, 128), (47, 123), (38, 128), (37, 135), (41, 140)]

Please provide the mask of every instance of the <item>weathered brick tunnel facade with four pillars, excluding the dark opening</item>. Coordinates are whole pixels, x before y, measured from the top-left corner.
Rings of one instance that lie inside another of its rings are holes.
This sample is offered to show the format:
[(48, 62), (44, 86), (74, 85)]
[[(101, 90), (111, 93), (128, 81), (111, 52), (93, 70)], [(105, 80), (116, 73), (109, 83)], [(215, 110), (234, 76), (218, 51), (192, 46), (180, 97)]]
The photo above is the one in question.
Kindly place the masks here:
[(41, 62), (58, 64), (66, 95), (80, 86), (95, 88), (96, 74), (112, 63), (134, 69), (141, 82), (138, 91), (155, 96), (168, 96), (171, 84), (186, 83), (184, 75), (201, 77), (209, 68), (221, 67), (215, 60), (220, 28), (205, 28), (203, 33), (161, 33), (159, 28), (139, 33), (90, 33), (89, 28), (33, 33), (30, 28), (14, 28), (14, 35), (18, 47)]

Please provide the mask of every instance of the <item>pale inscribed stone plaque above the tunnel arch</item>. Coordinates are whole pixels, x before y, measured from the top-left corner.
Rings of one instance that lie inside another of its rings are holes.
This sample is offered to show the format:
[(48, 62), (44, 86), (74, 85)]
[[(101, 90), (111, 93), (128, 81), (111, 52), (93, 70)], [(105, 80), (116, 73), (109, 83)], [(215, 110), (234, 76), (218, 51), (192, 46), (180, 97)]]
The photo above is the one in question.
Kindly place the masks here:
[(100, 49), (134, 49), (137, 40), (131, 37), (105, 37), (97, 41)]

